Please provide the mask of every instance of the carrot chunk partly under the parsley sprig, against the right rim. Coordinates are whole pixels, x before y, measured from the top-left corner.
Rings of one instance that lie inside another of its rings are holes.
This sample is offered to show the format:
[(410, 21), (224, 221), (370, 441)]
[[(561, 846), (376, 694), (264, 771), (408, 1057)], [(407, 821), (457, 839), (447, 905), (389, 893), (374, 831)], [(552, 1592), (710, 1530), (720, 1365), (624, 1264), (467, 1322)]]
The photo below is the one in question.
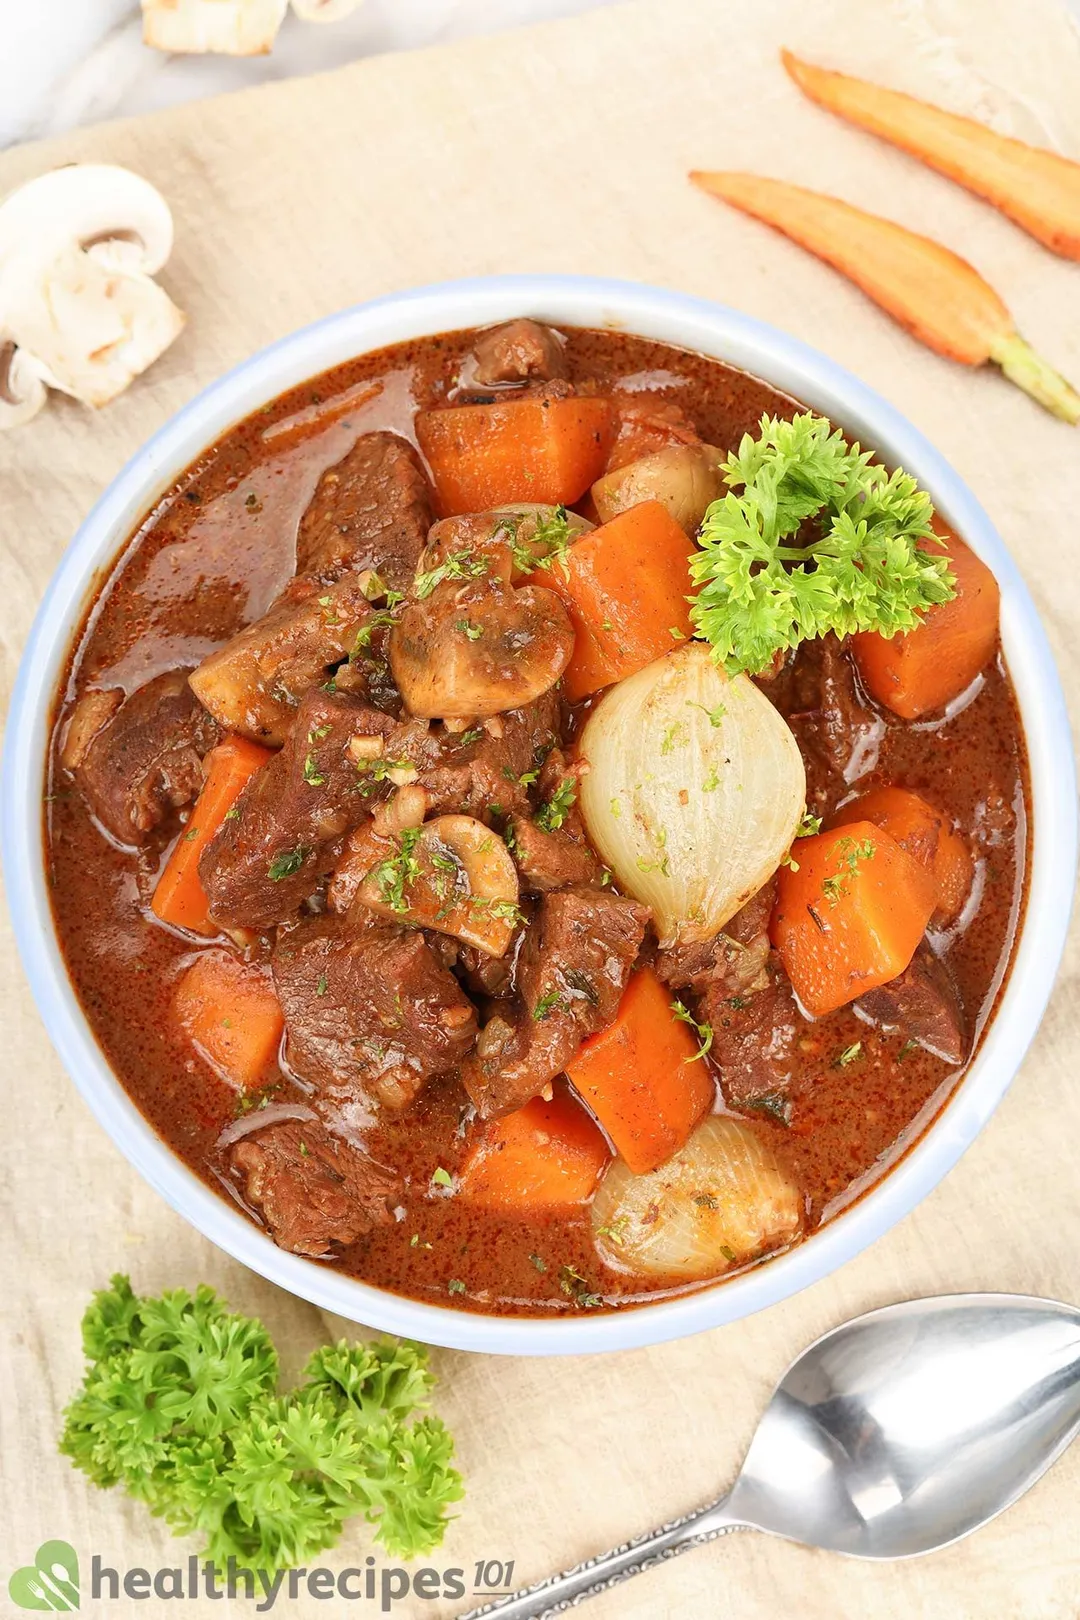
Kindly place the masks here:
[(863, 685), (902, 719), (918, 719), (959, 698), (997, 650), (997, 580), (941, 520), (934, 526), (946, 541), (957, 595), (928, 608), (915, 630), (852, 637)]

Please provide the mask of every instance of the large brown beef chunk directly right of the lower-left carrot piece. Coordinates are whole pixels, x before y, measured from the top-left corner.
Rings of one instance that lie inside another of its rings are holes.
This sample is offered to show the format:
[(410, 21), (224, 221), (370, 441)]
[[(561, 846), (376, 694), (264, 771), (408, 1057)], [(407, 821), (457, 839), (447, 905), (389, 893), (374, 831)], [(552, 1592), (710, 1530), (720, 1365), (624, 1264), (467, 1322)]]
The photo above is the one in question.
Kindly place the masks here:
[(340, 1103), (403, 1108), (476, 1038), (473, 1003), (416, 928), (313, 917), (279, 936), (272, 966), (288, 1064)]

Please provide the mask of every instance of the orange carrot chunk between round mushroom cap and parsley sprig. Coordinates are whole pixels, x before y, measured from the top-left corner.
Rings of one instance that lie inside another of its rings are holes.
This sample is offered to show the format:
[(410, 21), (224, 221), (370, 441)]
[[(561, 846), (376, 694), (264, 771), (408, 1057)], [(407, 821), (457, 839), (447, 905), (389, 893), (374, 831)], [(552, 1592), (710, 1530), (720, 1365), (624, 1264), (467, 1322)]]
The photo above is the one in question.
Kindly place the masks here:
[(559, 591), (570, 612), (576, 642), (563, 682), (572, 703), (625, 680), (693, 633), (693, 549), (659, 501), (643, 501), (531, 577)]

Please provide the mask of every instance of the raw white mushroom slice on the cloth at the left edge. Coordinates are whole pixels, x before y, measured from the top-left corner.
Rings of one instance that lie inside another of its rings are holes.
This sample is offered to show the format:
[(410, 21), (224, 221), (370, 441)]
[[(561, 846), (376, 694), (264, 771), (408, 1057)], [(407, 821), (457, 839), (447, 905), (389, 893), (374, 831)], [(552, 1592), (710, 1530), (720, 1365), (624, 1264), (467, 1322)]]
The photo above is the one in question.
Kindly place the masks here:
[(105, 405), (183, 329), (154, 282), (173, 240), (168, 204), (112, 164), (71, 164), (0, 202), (0, 428), (45, 387)]

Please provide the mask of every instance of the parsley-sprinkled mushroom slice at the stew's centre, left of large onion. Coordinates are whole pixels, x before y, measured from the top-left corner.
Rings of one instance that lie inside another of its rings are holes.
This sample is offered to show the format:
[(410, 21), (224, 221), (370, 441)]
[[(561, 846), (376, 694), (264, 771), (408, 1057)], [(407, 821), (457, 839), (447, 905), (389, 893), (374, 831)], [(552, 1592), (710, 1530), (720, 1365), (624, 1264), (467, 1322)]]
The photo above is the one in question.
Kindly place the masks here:
[(440, 815), (398, 844), (371, 868), (356, 899), (382, 917), (502, 956), (520, 912), (518, 873), (499, 834), (471, 815)]

